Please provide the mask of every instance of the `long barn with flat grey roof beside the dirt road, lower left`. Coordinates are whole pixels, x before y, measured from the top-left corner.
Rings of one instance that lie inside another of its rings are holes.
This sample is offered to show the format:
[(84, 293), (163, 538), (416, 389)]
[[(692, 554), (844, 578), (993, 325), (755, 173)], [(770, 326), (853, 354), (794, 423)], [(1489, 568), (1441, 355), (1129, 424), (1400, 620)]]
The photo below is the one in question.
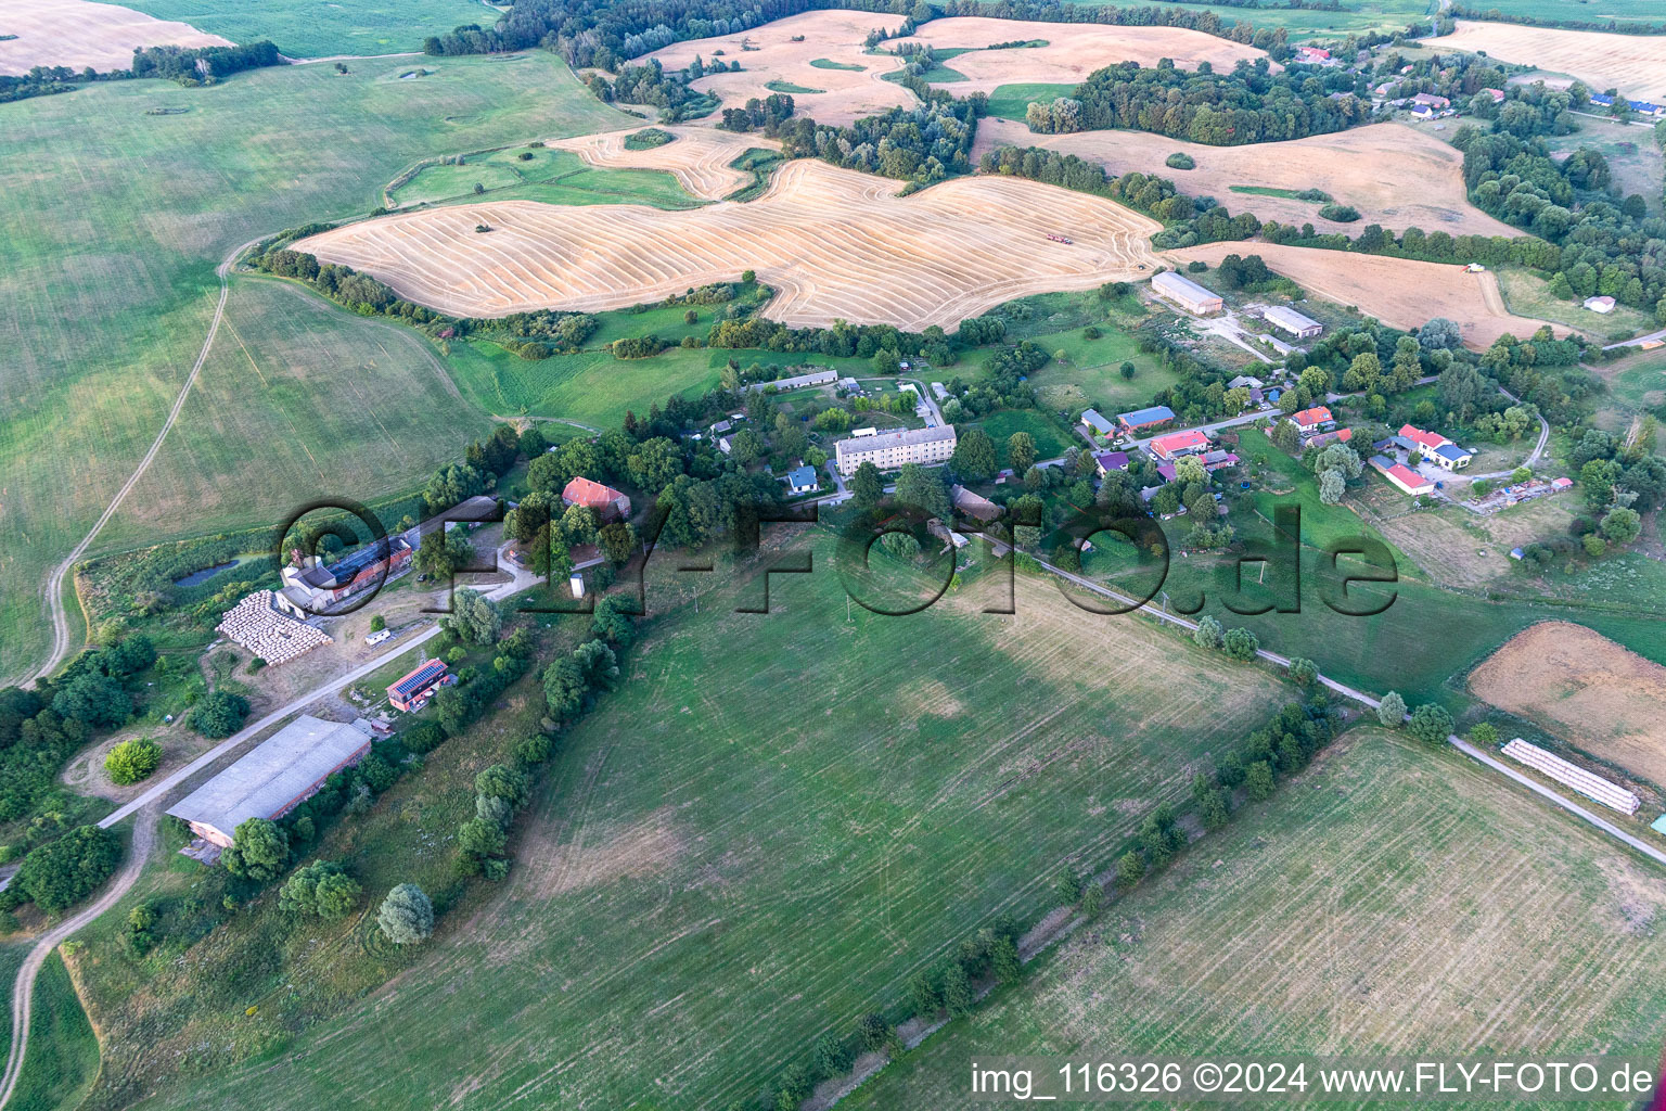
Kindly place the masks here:
[(340, 721), (302, 715), (243, 755), (235, 765), (168, 808), (192, 830), (232, 846), (250, 818), (278, 818), (310, 798), (332, 771), (358, 763), (370, 736)]

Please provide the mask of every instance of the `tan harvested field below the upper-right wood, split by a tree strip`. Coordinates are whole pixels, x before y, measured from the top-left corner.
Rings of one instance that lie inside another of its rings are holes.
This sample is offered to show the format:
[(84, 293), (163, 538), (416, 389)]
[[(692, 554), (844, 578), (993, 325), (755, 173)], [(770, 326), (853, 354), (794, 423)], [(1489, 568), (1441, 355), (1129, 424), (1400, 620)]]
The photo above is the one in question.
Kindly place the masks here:
[[(1469, 203), (1463, 187), (1463, 155), (1433, 135), (1403, 123), (1371, 123), (1336, 135), (1313, 135), (1284, 143), (1206, 147), (1146, 132), (1076, 132), (1035, 135), (1013, 120), (978, 122), (975, 155), (995, 147), (1045, 147), (1105, 167), (1173, 178), (1181, 192), (1213, 197), (1233, 212), (1253, 212), (1298, 228), (1358, 232), (1366, 223), (1404, 232), (1409, 227), (1449, 235), (1521, 235)], [(1195, 170), (1168, 170), (1163, 160), (1185, 152)], [(1319, 218), (1321, 205), (1293, 197), (1233, 193), (1231, 187), (1324, 190), (1359, 210), (1359, 223)]]

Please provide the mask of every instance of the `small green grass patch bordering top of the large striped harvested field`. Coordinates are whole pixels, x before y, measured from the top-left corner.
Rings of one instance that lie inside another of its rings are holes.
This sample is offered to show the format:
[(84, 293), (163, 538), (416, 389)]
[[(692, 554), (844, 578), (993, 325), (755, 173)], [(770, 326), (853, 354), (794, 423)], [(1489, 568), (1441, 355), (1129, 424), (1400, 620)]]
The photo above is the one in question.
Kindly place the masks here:
[[(531, 155), (531, 158), (521, 158)], [(473, 200), (541, 200), (551, 205), (653, 205), (693, 208), (700, 202), (663, 170), (596, 170), (578, 155), (548, 147), (510, 147), (471, 155), (465, 165), (431, 165), (392, 190), (398, 205)]]

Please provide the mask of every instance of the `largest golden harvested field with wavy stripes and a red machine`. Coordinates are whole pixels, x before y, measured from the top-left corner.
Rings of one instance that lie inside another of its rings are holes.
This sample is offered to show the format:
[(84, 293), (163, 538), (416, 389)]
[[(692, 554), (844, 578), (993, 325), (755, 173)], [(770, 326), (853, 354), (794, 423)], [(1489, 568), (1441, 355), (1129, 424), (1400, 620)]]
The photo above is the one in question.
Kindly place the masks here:
[(1158, 262), (1148, 238), (1160, 225), (1101, 197), (1000, 177), (911, 197), (896, 197), (900, 188), (801, 158), (746, 203), (455, 205), (335, 228), (295, 248), (463, 316), (623, 308), (756, 270), (776, 290), (771, 320), (900, 328), (948, 328), (1015, 296), (1138, 278)]

